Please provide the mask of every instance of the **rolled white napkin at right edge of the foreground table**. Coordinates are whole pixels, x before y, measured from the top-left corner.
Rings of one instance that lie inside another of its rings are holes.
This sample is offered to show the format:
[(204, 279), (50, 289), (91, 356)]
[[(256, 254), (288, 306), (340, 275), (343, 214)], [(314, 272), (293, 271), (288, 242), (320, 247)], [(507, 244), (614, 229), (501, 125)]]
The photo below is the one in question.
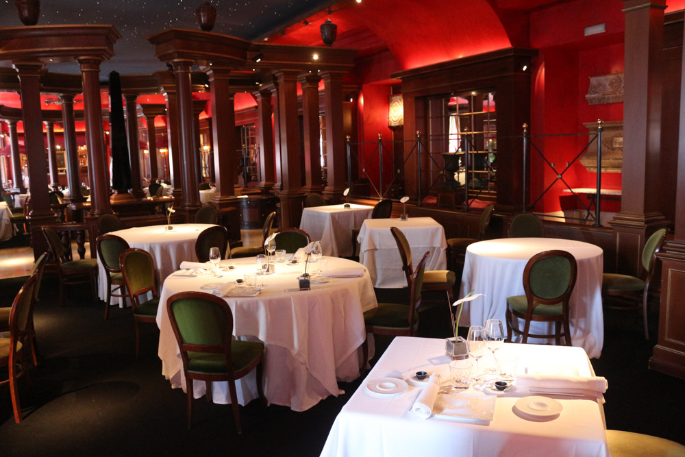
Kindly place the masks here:
[(572, 395), (592, 395), (601, 397), (606, 392), (608, 382), (602, 376), (564, 376), (564, 375), (516, 375), (516, 390), (560, 393)]

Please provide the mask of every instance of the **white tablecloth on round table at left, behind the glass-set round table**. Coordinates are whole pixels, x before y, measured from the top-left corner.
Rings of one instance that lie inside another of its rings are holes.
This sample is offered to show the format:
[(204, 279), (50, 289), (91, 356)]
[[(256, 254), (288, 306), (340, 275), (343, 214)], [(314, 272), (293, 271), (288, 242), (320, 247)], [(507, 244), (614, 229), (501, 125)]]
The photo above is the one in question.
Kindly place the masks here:
[[(111, 232), (124, 238), (130, 247), (138, 247), (148, 251), (155, 260), (157, 268), (158, 286), (167, 276), (179, 269), (184, 260), (197, 262), (195, 256), (195, 240), (200, 232), (212, 227), (212, 224), (173, 224), (173, 230), (166, 231), (166, 225), (150, 225), (149, 227), (132, 227)], [(107, 298), (107, 280), (105, 268), (97, 259), (99, 268), (98, 293), (101, 299)]]

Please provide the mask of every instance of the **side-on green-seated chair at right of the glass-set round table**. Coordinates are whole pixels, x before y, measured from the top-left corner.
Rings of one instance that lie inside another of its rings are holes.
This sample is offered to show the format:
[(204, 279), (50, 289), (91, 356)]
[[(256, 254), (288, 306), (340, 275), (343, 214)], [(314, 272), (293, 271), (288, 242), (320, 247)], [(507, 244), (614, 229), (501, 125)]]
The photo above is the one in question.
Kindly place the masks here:
[[(409, 284), (408, 303), (379, 303), (377, 308), (364, 312), (366, 333), (392, 336), (414, 336), (419, 329), (419, 305), (421, 305), (421, 288), (423, 273), (429, 252), (423, 254), (421, 262), (416, 265)], [(369, 358), (369, 345), (362, 343), (362, 363)]]

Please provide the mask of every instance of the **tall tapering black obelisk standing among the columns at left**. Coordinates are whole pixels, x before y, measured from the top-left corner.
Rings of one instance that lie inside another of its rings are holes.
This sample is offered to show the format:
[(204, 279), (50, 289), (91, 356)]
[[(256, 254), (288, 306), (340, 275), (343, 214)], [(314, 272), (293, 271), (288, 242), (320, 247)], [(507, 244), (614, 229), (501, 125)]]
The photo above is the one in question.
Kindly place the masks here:
[(131, 187), (124, 107), (119, 73), (110, 73), (110, 135), (112, 136), (112, 188), (125, 193)]

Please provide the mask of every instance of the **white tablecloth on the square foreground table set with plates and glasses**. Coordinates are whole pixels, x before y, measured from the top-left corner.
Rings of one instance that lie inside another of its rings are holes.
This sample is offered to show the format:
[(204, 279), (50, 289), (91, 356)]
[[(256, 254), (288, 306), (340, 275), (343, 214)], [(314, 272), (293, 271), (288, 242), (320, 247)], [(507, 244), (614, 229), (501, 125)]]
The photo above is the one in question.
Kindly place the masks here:
[[(510, 345), (518, 351), (517, 373), (532, 365), (564, 365), (578, 375), (594, 375), (590, 361), (579, 347)], [(406, 380), (415, 371), (439, 373), (449, 382), (445, 341), (396, 337), (362, 385), (340, 411), (321, 456), (606, 456), (603, 408), (597, 399), (549, 395), (563, 406), (554, 419), (531, 421), (516, 411), (514, 403), (527, 391), (497, 397), (492, 421), (473, 423), (430, 417), (419, 421), (408, 415), (418, 387), (397, 395), (371, 393), (366, 382), (391, 376)], [(486, 357), (482, 362), (490, 360)], [(482, 388), (467, 394), (488, 395)]]

